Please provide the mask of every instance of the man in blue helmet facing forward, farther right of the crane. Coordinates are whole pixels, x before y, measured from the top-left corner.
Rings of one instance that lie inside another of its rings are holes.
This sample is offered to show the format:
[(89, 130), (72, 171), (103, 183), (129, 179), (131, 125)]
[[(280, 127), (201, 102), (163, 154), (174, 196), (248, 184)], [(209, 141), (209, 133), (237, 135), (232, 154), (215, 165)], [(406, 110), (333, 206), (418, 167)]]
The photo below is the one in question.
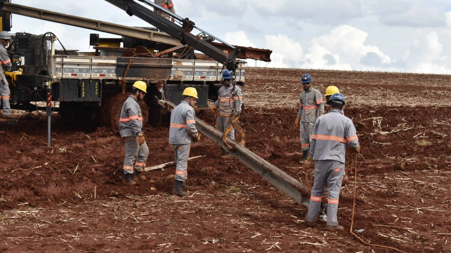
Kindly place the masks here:
[(315, 121), (324, 114), (323, 96), (311, 87), (312, 81), (310, 74), (304, 74), (301, 77), (304, 91), (299, 97), (299, 111), (294, 121), (294, 128), (300, 128), (302, 159), (299, 163), (301, 164), (307, 159)]

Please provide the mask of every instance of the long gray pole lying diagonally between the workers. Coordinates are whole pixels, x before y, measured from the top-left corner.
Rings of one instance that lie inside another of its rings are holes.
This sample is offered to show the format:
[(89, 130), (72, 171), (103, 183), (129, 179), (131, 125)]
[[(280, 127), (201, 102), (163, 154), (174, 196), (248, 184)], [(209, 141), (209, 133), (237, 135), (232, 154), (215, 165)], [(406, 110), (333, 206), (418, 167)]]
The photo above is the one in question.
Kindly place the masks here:
[[(171, 102), (160, 100), (159, 104), (169, 110), (175, 108), (175, 105)], [(227, 144), (234, 149), (228, 149), (223, 143), (223, 133), (198, 118), (196, 118), (196, 127), (198, 131), (212, 139), (216, 142), (216, 144), (220, 145), (229, 154), (240, 160), (247, 167), (249, 167), (249, 169), (263, 177), (286, 196), (290, 197), (299, 205), (308, 208), (308, 204), (310, 202), (309, 188), (303, 186), (299, 181), (290, 175), (286, 174), (276, 166), (229, 138), (227, 138)]]

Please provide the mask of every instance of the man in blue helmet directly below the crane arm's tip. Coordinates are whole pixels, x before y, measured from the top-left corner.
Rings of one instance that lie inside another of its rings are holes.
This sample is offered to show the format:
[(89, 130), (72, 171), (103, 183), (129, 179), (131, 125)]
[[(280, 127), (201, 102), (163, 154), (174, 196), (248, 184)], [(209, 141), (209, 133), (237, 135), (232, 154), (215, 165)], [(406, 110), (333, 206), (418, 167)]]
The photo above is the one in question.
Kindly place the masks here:
[[(215, 105), (212, 107), (213, 114), (218, 114), (216, 119), (216, 129), (224, 132), (231, 121), (229, 115), (233, 112), (241, 113), (242, 90), (233, 83), (233, 75), (230, 70), (224, 70), (223, 72), (223, 86), (219, 89), (218, 99)], [(232, 129), (227, 136), (234, 140), (235, 129)], [(226, 151), (223, 150), (222, 155), (225, 155)]]

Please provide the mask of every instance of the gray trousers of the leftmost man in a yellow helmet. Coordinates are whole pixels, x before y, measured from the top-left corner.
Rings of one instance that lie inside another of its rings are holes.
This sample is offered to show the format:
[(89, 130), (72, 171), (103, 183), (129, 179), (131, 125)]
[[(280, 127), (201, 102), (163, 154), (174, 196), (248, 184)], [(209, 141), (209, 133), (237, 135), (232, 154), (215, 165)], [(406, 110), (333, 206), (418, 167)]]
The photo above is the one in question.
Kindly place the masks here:
[[(146, 167), (147, 157), (149, 157), (149, 147), (147, 143), (139, 145), (138, 136), (128, 136), (125, 139), (125, 159), (124, 174), (133, 174), (133, 163), (137, 171), (143, 171)], [(136, 161), (136, 162), (135, 162)]]

